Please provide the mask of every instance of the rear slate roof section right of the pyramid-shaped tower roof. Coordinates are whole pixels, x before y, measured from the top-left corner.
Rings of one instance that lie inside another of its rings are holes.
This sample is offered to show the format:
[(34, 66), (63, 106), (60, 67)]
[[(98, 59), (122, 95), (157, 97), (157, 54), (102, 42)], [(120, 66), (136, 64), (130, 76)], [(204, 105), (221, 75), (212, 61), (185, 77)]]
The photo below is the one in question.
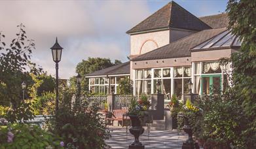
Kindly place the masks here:
[(229, 25), (229, 17), (226, 13), (202, 16), (200, 17), (200, 20), (208, 24), (213, 29), (219, 29)]

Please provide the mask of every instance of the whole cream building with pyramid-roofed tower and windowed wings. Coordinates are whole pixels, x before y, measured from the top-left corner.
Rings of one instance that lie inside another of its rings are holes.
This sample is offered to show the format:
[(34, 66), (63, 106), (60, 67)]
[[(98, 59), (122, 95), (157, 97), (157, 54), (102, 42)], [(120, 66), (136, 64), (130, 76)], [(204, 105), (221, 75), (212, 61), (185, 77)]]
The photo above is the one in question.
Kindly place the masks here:
[[(241, 46), (239, 38), (227, 29), (228, 24), (225, 13), (198, 18), (171, 1), (128, 30), (130, 70), (125, 75), (134, 82), (134, 95), (160, 91), (166, 99), (174, 94), (183, 98), (189, 93), (189, 80), (192, 93), (199, 95), (213, 93), (211, 86), (225, 90), (231, 64), (220, 65), (219, 59), (230, 58)], [(98, 71), (86, 76), (90, 90), (101, 93), (107, 86), (117, 90), (119, 79), (111, 78), (109, 83), (107, 75), (111, 76)]]

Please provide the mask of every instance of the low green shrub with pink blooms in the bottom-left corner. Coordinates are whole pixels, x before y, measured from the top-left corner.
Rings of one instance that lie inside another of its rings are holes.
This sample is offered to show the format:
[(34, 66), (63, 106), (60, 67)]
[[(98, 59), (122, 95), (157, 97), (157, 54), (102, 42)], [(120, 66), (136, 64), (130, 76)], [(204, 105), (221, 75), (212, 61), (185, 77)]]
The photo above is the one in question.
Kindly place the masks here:
[(60, 137), (44, 131), (37, 125), (9, 124), (0, 126), (0, 148), (62, 148)]

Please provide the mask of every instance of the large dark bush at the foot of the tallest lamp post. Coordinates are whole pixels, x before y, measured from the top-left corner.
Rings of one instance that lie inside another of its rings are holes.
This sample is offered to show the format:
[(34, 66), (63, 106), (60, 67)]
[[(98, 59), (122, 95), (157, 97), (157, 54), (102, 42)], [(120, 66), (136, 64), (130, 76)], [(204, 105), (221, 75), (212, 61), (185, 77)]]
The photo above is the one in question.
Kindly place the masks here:
[(64, 138), (66, 148), (107, 148), (109, 138), (98, 105), (90, 106), (86, 101), (71, 106), (71, 96), (65, 91), (56, 116), (49, 122), (48, 129)]

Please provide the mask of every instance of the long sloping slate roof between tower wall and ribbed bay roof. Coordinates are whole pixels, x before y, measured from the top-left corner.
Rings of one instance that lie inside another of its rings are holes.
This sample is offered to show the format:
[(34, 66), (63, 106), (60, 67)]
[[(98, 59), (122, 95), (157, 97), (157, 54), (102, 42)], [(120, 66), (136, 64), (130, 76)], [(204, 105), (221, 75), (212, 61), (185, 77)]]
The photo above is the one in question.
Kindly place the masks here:
[(227, 30), (226, 28), (222, 29), (206, 29), (198, 33), (179, 39), (178, 41), (171, 42), (166, 46), (157, 48), (151, 52), (147, 52), (136, 58), (131, 59), (132, 61), (141, 61), (149, 59), (167, 59), (167, 58), (182, 58), (191, 56), (191, 48), (194, 46), (215, 37), (219, 33)]

